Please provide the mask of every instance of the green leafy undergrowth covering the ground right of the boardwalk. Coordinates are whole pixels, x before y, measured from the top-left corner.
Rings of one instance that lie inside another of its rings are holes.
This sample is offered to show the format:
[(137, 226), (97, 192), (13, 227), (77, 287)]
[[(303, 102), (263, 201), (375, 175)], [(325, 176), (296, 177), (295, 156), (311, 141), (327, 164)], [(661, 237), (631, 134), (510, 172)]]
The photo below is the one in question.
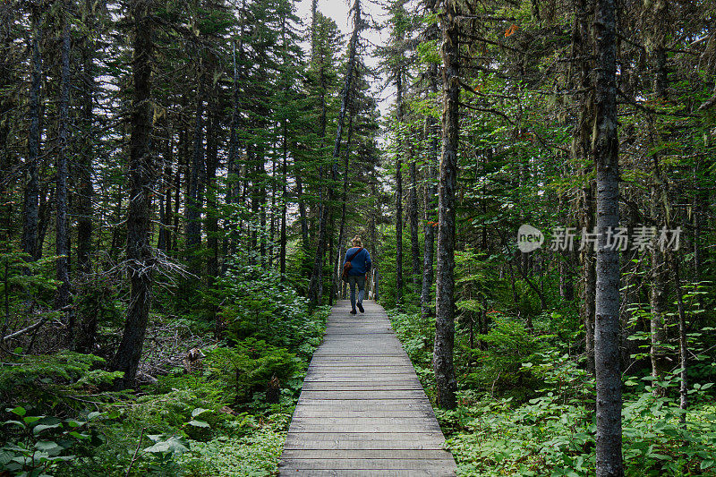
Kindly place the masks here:
[[(388, 314), (434, 402), (434, 324), (417, 313)], [(463, 339), (456, 336), (458, 406), (436, 408), (458, 475), (593, 475), (594, 381), (579, 357), (564, 353), (554, 336), (528, 332), (517, 319), (495, 319), (489, 333), (476, 335), (476, 343), (489, 344), (485, 349), (468, 349)], [(650, 376), (625, 378), (627, 477), (716, 475), (712, 385), (690, 385), (691, 404), (681, 424), (678, 371), (660, 381), (667, 389), (663, 397), (653, 396)]]

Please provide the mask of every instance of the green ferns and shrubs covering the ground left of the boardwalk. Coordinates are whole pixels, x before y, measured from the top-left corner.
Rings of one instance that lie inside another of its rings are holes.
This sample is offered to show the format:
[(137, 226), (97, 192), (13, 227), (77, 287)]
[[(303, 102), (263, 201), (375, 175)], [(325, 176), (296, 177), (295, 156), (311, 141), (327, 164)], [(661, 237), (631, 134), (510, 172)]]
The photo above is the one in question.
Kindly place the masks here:
[[(329, 311), (311, 313), (303, 298), (279, 293), (272, 277), (264, 285), (261, 294), (283, 298), (259, 320), (256, 303), (247, 311), (226, 300), (231, 305), (219, 309), (226, 338), (201, 346), (195, 369), (167, 362), (156, 382), (135, 390), (108, 390), (117, 374), (104, 371), (107, 362), (98, 356), (21, 349), (5, 356), (0, 475), (276, 475)], [(186, 321), (193, 328), (192, 318)]]

